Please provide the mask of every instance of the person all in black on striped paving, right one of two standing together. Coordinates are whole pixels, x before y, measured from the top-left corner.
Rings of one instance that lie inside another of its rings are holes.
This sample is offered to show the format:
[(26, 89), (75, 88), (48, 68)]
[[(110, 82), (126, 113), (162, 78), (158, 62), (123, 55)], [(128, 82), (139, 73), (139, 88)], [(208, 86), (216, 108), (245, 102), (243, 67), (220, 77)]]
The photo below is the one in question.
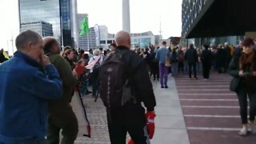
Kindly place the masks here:
[(202, 48), (202, 55), (201, 55), (201, 61), (202, 61), (202, 72), (203, 72), (203, 78), (205, 80), (209, 79), (210, 74), (210, 67), (211, 67), (211, 58), (212, 54), (210, 50), (208, 50), (208, 45), (203, 45)]

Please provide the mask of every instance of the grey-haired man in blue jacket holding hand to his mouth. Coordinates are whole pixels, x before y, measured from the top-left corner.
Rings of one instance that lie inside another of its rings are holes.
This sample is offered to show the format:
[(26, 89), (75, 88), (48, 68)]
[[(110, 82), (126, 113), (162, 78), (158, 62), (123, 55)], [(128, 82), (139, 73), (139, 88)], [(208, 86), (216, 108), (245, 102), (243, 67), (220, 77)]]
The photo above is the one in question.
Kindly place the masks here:
[(0, 65), (0, 143), (45, 143), (47, 102), (61, 98), (62, 81), (38, 33), (23, 31), (15, 44), (14, 58)]

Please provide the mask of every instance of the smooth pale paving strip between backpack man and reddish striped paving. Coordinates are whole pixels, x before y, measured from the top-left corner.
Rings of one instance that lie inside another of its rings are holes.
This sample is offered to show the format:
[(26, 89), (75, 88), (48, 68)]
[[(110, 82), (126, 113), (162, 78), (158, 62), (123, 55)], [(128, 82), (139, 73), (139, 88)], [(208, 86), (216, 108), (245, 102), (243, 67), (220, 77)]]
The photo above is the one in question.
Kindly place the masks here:
[(169, 77), (168, 89), (161, 89), (159, 82), (153, 82), (157, 100), (155, 112), (155, 134), (152, 144), (189, 144), (182, 108), (174, 78)]

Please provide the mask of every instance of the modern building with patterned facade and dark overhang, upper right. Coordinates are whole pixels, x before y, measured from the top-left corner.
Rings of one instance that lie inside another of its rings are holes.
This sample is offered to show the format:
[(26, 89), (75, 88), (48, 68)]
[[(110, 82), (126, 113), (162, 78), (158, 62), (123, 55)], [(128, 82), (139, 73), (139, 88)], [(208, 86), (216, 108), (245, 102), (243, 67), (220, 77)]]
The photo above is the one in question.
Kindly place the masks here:
[(182, 44), (230, 42), (236, 45), (246, 32), (256, 30), (256, 1), (183, 0)]

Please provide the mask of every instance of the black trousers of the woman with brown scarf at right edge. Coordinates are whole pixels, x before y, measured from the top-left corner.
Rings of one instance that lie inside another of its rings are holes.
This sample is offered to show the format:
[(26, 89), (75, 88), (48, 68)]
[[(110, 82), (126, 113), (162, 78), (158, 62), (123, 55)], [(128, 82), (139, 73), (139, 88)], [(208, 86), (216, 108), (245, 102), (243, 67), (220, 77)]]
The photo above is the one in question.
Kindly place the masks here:
[(250, 121), (255, 120), (256, 115), (256, 93), (247, 92), (247, 90), (238, 90), (238, 101), (240, 105), (240, 115), (242, 119), (242, 124), (247, 124), (247, 95), (250, 104)]

